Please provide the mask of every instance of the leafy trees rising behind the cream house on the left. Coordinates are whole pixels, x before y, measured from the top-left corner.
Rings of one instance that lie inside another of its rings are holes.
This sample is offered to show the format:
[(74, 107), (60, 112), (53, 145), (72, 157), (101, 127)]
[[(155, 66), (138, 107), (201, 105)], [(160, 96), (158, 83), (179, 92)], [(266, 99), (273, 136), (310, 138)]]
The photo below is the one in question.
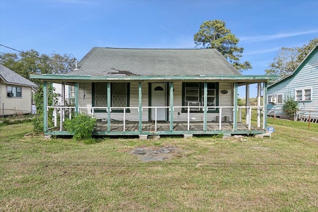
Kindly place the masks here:
[(1, 53), (0, 64), (20, 74), (21, 76), (40, 85), (40, 80), (30, 79), (30, 74), (41, 73), (66, 73), (75, 67), (74, 57), (67, 54), (63, 56), (53, 53), (51, 56), (40, 54), (31, 49), (30, 51), (15, 53)]

